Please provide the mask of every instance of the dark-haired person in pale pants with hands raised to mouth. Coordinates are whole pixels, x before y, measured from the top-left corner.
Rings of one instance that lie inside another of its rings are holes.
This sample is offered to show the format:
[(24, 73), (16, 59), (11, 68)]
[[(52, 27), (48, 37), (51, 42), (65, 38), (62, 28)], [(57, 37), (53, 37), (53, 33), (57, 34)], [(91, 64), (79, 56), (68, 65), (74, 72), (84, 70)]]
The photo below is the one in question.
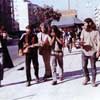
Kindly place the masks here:
[(52, 78), (53, 82), (52, 85), (57, 84), (57, 63), (60, 67), (59, 78), (63, 80), (63, 34), (59, 31), (57, 26), (51, 27), (51, 68), (52, 68)]

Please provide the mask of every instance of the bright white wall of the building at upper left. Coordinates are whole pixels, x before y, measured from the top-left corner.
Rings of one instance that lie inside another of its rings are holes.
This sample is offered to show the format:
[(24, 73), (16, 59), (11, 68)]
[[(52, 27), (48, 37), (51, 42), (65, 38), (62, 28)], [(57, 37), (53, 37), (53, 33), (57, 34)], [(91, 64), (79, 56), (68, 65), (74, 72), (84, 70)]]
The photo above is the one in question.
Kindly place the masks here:
[(28, 2), (14, 0), (14, 13), (15, 20), (19, 23), (19, 29), (25, 30), (25, 27), (29, 24)]

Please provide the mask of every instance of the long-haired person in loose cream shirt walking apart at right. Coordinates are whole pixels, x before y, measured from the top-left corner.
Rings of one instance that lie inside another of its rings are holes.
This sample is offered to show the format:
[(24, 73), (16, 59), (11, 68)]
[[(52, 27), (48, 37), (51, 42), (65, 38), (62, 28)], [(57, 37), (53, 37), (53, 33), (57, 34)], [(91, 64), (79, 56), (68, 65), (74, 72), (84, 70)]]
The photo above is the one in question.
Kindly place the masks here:
[(100, 35), (96, 30), (96, 25), (91, 18), (86, 18), (84, 20), (84, 29), (81, 33), (82, 42), (82, 66), (85, 76), (83, 85), (87, 85), (90, 81), (89, 71), (87, 68), (88, 59), (91, 63), (92, 72), (92, 86), (96, 86), (96, 59), (99, 57), (100, 52)]

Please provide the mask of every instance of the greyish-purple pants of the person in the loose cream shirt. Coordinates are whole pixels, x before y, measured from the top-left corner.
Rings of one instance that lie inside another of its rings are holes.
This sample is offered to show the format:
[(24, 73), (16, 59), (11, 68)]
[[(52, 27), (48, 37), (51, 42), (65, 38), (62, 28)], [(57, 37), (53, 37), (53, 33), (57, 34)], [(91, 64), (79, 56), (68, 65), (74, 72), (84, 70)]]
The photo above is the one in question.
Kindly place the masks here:
[(86, 56), (84, 53), (82, 54), (82, 66), (83, 66), (84, 76), (86, 78), (89, 78), (89, 70), (87, 68), (88, 59), (90, 59), (90, 63), (91, 63), (92, 80), (95, 81), (96, 79), (96, 53), (94, 53), (93, 56)]

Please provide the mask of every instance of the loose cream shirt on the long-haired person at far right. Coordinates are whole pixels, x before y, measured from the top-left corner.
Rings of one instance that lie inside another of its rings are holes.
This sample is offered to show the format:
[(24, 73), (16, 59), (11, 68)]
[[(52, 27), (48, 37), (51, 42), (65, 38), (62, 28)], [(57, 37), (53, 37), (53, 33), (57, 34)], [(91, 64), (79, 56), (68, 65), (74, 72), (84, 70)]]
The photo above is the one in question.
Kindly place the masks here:
[(100, 35), (98, 31), (93, 30), (91, 32), (87, 32), (82, 30), (81, 39), (83, 39), (84, 45), (89, 45), (92, 47), (89, 51), (82, 49), (86, 56), (92, 56), (95, 52), (100, 50)]

